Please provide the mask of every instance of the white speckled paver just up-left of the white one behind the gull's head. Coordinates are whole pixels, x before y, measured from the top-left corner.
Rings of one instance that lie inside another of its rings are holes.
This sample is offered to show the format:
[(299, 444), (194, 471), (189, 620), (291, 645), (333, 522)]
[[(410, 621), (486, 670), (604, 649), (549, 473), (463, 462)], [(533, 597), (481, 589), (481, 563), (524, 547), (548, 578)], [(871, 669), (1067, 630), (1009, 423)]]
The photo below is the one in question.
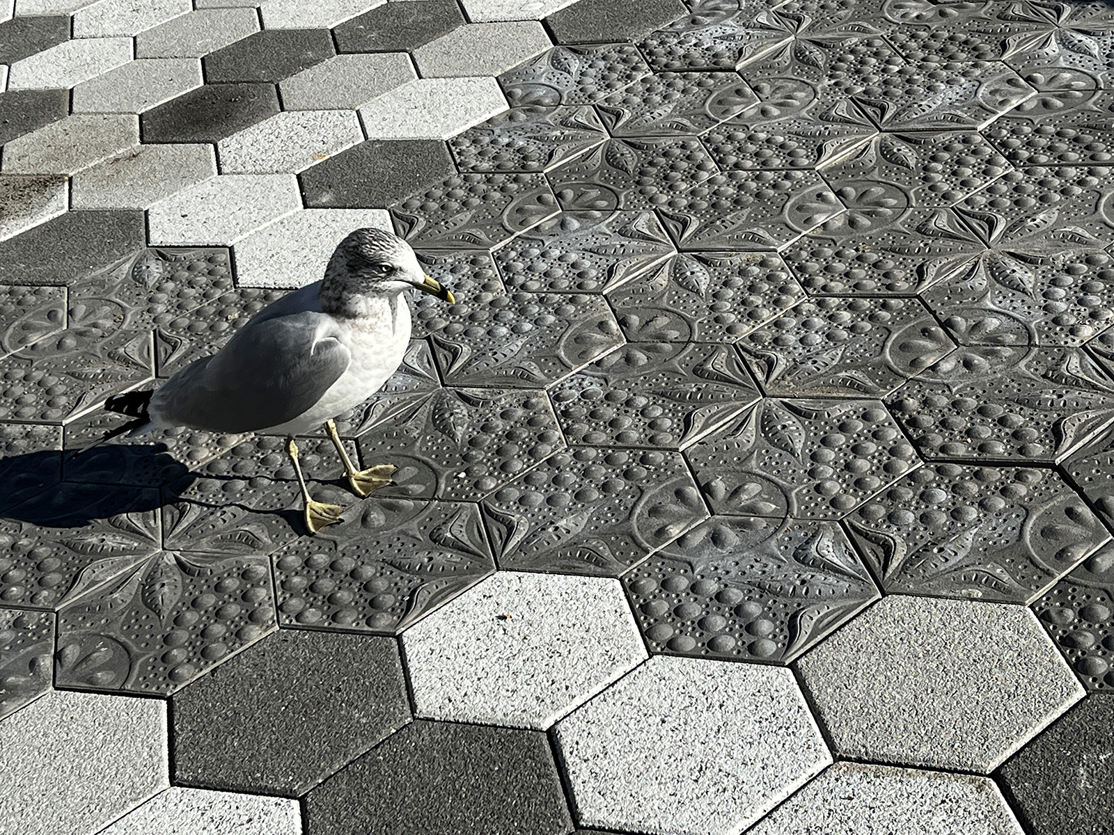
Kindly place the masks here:
[(293, 174), (231, 174), (148, 209), (152, 246), (227, 246), (302, 207)]

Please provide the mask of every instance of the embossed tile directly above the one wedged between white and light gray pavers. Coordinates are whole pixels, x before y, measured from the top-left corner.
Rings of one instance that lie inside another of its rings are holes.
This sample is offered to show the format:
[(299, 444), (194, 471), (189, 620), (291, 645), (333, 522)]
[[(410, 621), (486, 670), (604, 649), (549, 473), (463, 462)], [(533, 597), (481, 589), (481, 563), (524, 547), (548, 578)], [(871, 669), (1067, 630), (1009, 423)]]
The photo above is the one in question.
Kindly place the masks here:
[(716, 513), (798, 519), (838, 519), (920, 465), (877, 400), (761, 400), (685, 458)]

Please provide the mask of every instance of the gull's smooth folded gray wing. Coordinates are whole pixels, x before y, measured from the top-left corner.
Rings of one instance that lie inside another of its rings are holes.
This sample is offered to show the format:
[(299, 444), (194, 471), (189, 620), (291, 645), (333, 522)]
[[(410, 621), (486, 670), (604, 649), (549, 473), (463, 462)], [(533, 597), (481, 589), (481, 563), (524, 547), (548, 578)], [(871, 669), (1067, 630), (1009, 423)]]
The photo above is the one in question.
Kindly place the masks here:
[(215, 356), (170, 377), (152, 397), (159, 422), (253, 432), (297, 418), (335, 383), (352, 354), (332, 316), (312, 311), (253, 321)]

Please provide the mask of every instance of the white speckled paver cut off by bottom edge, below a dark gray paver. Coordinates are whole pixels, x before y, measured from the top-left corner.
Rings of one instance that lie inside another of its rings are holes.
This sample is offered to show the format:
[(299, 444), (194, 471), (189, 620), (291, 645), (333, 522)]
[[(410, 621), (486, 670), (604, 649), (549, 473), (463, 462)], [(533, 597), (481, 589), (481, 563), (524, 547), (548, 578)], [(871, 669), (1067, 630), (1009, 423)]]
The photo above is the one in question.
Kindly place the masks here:
[(100, 835), (299, 835), (301, 832), (297, 800), (175, 786), (155, 795)]

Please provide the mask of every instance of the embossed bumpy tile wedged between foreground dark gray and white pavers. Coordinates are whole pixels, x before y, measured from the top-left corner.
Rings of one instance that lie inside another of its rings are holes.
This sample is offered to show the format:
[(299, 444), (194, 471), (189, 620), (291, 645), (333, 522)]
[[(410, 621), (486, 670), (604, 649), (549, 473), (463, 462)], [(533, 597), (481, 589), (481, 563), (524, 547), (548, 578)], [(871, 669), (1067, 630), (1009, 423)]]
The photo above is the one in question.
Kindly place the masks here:
[(495, 570), (479, 508), (409, 499), (379, 499), (272, 559), (282, 625), (385, 635)]

